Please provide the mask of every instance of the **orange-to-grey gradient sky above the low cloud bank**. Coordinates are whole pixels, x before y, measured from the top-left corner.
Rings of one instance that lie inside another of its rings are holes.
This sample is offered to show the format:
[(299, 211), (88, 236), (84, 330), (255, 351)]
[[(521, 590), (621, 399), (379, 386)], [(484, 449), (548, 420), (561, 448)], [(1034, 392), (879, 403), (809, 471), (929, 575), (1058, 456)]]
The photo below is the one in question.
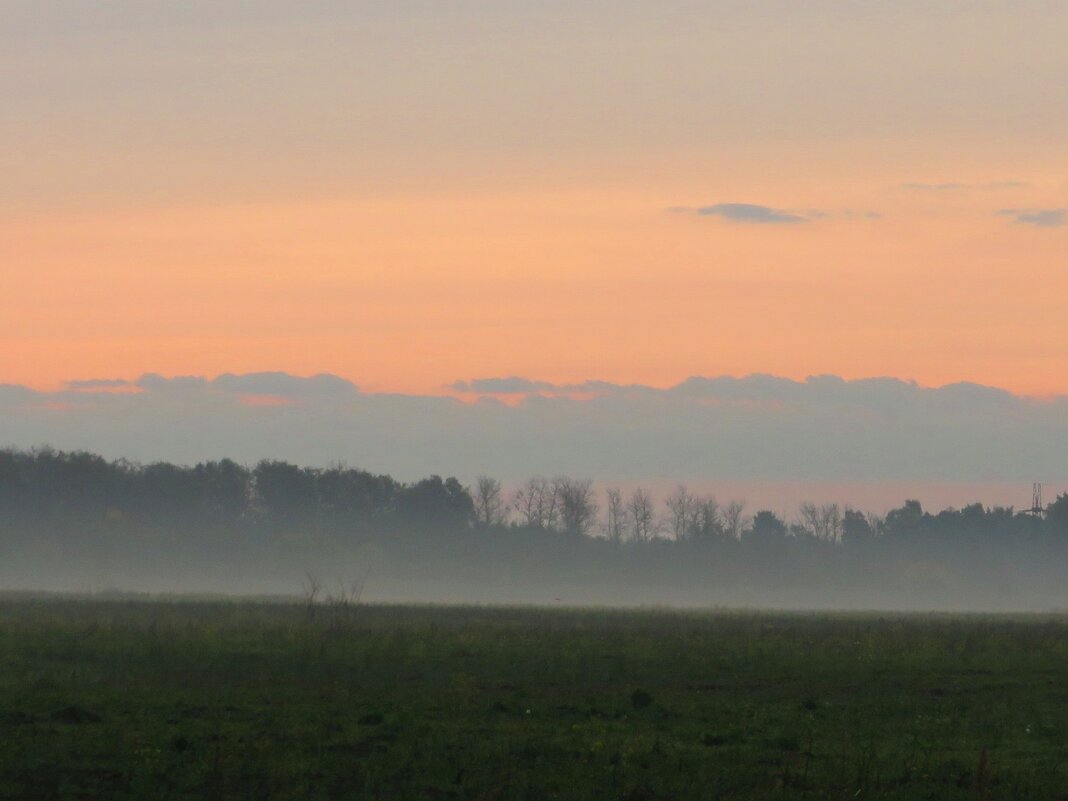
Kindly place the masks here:
[(0, 382), (1068, 393), (1068, 4), (7, 0)]

